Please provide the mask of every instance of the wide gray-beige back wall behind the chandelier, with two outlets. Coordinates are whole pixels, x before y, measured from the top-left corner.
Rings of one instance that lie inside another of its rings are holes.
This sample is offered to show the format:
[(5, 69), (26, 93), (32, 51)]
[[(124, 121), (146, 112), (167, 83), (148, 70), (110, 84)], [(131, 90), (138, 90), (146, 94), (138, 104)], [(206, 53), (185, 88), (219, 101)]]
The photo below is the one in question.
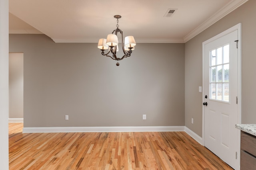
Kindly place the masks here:
[(138, 43), (116, 66), (96, 43), (9, 38), (24, 53), (24, 127), (184, 125), (184, 43)]

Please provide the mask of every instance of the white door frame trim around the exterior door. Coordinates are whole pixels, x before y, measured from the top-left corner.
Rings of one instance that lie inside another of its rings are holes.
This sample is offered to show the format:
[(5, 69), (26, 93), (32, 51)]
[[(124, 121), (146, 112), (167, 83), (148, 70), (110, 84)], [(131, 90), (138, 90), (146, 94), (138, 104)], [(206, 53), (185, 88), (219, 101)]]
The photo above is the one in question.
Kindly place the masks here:
[[(203, 48), (202, 48), (202, 53), (203, 53), (203, 55), (202, 55), (202, 57), (203, 57), (202, 102), (204, 102), (204, 99), (205, 99), (204, 96), (206, 95), (205, 91), (204, 91), (204, 86), (205, 86), (205, 83), (204, 83), (204, 78), (205, 78), (205, 73), (204, 73), (204, 69), (205, 69), (205, 55), (204, 55), (205, 54), (205, 52), (204, 52), (205, 51), (205, 45), (214, 41), (214, 40), (216, 40), (216, 39), (218, 39), (218, 38), (220, 38), (220, 37), (223, 37), (224, 35), (227, 35), (227, 34), (233, 32), (233, 31), (238, 30), (238, 66), (237, 66), (238, 67), (238, 69), (237, 69), (237, 71), (238, 71), (237, 72), (237, 74), (238, 74), (238, 77), (237, 77), (238, 78), (237, 79), (237, 83), (238, 83), (237, 84), (237, 88), (238, 88), (238, 92), (237, 92), (238, 93), (237, 94), (238, 95), (237, 96), (238, 97), (238, 124), (241, 123), (241, 56), (242, 56), (242, 54), (241, 54), (241, 47), (242, 47), (241, 46), (241, 27), (242, 27), (242, 24), (238, 23), (238, 24), (234, 25), (233, 27), (227, 29), (226, 31), (223, 31), (222, 33), (219, 33), (218, 35), (216, 35), (216, 36), (214, 36), (214, 37), (212, 37), (212, 38), (210, 38), (210, 39), (208, 39), (208, 40), (206, 40), (202, 43), (202, 46), (203, 46)], [(205, 133), (204, 132), (205, 111), (204, 111), (204, 108), (205, 107), (202, 105), (202, 145), (203, 146), (205, 146), (205, 135), (204, 135), (204, 133)], [(238, 142), (238, 144), (237, 144), (237, 146), (238, 146), (238, 148), (237, 148), (237, 151), (238, 151), (237, 159), (240, 160), (240, 131), (238, 133), (237, 142)]]

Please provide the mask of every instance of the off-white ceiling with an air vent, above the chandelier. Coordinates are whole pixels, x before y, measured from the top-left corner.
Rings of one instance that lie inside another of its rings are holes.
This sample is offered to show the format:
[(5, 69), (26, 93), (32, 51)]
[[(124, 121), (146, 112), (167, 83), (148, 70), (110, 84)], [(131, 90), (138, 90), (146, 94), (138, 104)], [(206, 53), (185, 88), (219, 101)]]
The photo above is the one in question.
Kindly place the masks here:
[[(119, 28), (137, 43), (184, 43), (248, 0), (9, 0), (9, 33), (96, 43)], [(164, 17), (168, 9), (175, 9)]]

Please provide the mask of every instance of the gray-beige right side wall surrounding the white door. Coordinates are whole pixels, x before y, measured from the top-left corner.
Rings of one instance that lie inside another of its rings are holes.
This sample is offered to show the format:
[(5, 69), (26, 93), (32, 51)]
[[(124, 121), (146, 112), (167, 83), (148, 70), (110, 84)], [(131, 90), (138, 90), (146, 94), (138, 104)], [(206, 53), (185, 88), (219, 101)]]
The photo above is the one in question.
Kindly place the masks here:
[[(242, 23), (242, 123), (256, 123), (256, 1), (249, 0), (185, 44), (185, 125), (202, 136), (202, 43)], [(194, 118), (194, 124), (191, 118)]]

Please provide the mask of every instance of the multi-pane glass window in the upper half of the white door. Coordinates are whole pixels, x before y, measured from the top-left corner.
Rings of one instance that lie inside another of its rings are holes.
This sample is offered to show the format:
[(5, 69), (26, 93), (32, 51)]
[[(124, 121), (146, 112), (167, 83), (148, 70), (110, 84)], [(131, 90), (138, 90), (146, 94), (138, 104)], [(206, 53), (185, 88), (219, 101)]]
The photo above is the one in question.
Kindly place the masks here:
[(210, 99), (229, 102), (229, 44), (210, 52)]

